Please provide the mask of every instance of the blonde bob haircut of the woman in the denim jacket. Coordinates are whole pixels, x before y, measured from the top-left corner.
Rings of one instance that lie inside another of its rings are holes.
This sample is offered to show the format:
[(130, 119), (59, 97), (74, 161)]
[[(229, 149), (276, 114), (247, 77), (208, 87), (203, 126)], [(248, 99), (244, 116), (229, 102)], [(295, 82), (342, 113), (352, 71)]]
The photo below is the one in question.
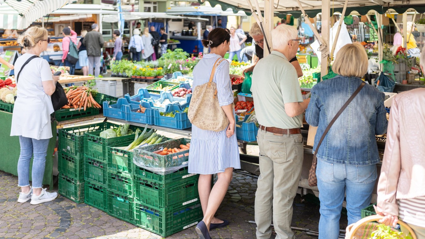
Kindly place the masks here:
[(363, 77), (368, 71), (368, 54), (360, 43), (343, 46), (335, 57), (332, 71), (344, 77)]

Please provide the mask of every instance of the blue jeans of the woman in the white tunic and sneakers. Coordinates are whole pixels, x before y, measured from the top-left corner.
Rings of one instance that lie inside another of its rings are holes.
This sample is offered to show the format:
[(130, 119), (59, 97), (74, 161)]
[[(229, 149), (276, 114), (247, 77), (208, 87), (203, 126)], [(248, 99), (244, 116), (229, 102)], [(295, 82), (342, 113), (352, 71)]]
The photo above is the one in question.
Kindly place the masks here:
[(47, 148), (50, 139), (31, 139), (20, 136), (19, 143), (21, 154), (18, 161), (18, 186), (29, 186), (29, 167), (31, 157), (34, 154), (32, 162), (32, 187), (43, 187), (43, 175), (46, 164)]

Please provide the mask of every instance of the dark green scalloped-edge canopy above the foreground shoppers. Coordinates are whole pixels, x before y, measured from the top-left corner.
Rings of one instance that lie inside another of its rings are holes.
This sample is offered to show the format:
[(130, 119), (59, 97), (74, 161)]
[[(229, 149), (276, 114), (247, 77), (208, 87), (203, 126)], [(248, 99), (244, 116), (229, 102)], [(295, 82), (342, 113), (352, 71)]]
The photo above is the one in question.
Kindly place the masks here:
[[(251, 10), (247, 0), (198, 0), (199, 3), (208, 1), (211, 6), (220, 5), (223, 11), (232, 9), (234, 13), (244, 11), (246, 15), (250, 16)], [(251, 1), (254, 3), (253, 1)], [(344, 0), (331, 0), (331, 13), (342, 12), (344, 6)], [(402, 2), (402, 3), (400, 3)], [(322, 11), (321, 0), (300, 0), (301, 6), (306, 10), (306, 14), (311, 17), (316, 16)], [(264, 11), (264, 1), (258, 0), (260, 10)], [(409, 9), (414, 9), (419, 13), (425, 12), (425, 1), (424, 0), (410, 0), (408, 4), (406, 1), (394, 1), (394, 0), (348, 0), (347, 10), (345, 15), (348, 16), (355, 12), (356, 14), (365, 15), (368, 11), (375, 10), (380, 14), (385, 14), (387, 10), (391, 12), (397, 12), (402, 14)], [(283, 17), (286, 14), (292, 14), (294, 17), (300, 17), (301, 11), (300, 6), (296, 0), (274, 0), (274, 11), (278, 17)]]

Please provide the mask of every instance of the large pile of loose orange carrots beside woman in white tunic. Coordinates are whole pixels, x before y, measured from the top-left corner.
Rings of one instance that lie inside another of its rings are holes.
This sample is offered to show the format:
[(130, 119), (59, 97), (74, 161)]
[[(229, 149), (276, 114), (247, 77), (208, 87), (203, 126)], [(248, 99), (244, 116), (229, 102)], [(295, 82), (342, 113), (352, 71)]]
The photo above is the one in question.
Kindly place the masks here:
[(74, 109), (81, 110), (84, 108), (84, 111), (87, 107), (93, 108), (102, 108), (93, 98), (92, 92), (97, 93), (85, 86), (72, 86), (69, 88), (64, 88), (66, 97), (68, 98), (68, 104), (62, 107), (62, 109), (69, 109), (73, 107)]

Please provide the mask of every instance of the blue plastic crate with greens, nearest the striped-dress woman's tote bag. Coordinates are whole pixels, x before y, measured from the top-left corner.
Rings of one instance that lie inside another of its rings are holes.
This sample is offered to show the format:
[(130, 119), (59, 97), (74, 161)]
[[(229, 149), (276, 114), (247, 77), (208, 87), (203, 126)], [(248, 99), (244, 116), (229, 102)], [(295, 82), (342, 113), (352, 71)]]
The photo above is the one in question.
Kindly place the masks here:
[(161, 116), (159, 110), (155, 109), (153, 111), (154, 122), (157, 126), (175, 128), (175, 129), (187, 129), (192, 127), (187, 113), (183, 113), (179, 105), (167, 105), (167, 110), (164, 113), (169, 113), (172, 111), (178, 111), (174, 117)]

